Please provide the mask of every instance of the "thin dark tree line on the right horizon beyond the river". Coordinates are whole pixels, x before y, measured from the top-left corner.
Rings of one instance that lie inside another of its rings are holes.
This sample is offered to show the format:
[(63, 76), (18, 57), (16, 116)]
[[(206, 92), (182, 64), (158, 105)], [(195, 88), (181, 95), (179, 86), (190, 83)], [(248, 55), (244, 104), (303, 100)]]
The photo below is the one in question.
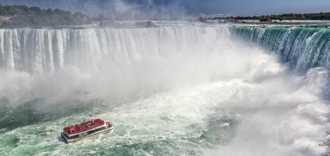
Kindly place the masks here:
[(262, 16), (228, 16), (228, 17), (215, 17), (212, 18), (214, 20), (220, 20), (220, 19), (259, 19), (265, 20), (330, 20), (330, 12), (328, 13), (310, 13), (310, 14), (281, 14), (281, 15), (262, 15)]

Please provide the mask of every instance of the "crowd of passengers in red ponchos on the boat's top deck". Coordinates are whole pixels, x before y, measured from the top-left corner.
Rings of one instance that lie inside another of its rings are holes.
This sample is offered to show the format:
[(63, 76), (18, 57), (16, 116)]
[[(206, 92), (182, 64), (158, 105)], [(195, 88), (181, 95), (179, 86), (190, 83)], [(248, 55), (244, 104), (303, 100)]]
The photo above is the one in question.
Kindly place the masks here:
[(90, 121), (85, 121), (80, 124), (71, 125), (68, 127), (64, 127), (63, 130), (68, 134), (80, 133), (83, 131), (87, 131), (89, 129), (104, 125), (104, 120), (101, 119), (92, 119)]

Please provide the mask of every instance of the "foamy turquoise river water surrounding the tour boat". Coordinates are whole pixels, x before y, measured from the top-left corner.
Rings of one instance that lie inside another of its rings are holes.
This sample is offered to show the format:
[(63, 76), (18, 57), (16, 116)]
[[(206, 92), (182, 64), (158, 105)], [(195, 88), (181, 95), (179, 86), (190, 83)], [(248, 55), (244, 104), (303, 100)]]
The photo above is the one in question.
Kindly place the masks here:
[[(6, 128), (1, 129), (0, 154), (203, 155), (203, 150), (223, 144), (223, 131), (232, 129), (228, 125), (235, 125), (235, 120), (220, 117), (218, 108), (206, 102), (199, 106), (202, 110), (187, 106), (183, 107), (188, 110), (177, 108), (181, 105), (169, 100), (181, 100), (198, 107), (198, 102), (182, 98), (203, 97), (189, 97), (182, 93), (175, 97), (172, 94), (156, 94), (135, 102), (115, 104), (102, 99), (63, 103), (33, 99), (16, 107), (7, 107), (1, 112), (1, 125)], [(203, 93), (196, 91), (196, 94)], [(65, 144), (59, 136), (63, 126), (84, 121), (88, 114), (110, 119), (115, 129)]]

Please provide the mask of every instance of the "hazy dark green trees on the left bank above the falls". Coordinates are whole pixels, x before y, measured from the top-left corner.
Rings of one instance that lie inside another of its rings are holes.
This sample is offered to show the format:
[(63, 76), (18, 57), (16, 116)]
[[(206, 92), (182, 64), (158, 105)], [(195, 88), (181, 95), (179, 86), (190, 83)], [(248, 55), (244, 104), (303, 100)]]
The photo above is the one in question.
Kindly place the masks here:
[(91, 19), (81, 12), (71, 13), (60, 9), (40, 9), (26, 5), (2, 6), (0, 15), (14, 16), (11, 22), (3, 22), (2, 26), (41, 26), (41, 25), (79, 25), (90, 24)]

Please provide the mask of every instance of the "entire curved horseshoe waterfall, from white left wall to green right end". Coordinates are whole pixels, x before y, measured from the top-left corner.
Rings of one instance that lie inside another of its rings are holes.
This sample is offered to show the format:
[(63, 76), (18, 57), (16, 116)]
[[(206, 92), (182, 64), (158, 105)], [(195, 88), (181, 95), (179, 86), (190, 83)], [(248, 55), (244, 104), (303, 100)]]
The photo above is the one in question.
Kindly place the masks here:
[[(234, 75), (237, 78), (247, 72), (247, 67), (222, 68), (232, 59), (223, 60), (224, 56), (237, 51), (230, 36), (273, 50), (285, 61), (295, 62), (294, 68), (299, 70), (330, 68), (327, 28), (7, 28), (0, 29), (0, 96), (29, 97), (36, 92), (57, 95), (73, 88), (100, 90), (99, 85), (117, 88), (112, 92), (121, 94), (141, 90), (145, 84), (153, 88), (147, 90), (154, 90)], [(235, 67), (242, 62), (229, 64)], [(230, 72), (223, 75), (223, 70)], [(242, 70), (242, 74), (238, 76), (235, 70)], [(108, 84), (95, 84), (100, 82)], [(37, 91), (34, 86), (39, 86)]]

